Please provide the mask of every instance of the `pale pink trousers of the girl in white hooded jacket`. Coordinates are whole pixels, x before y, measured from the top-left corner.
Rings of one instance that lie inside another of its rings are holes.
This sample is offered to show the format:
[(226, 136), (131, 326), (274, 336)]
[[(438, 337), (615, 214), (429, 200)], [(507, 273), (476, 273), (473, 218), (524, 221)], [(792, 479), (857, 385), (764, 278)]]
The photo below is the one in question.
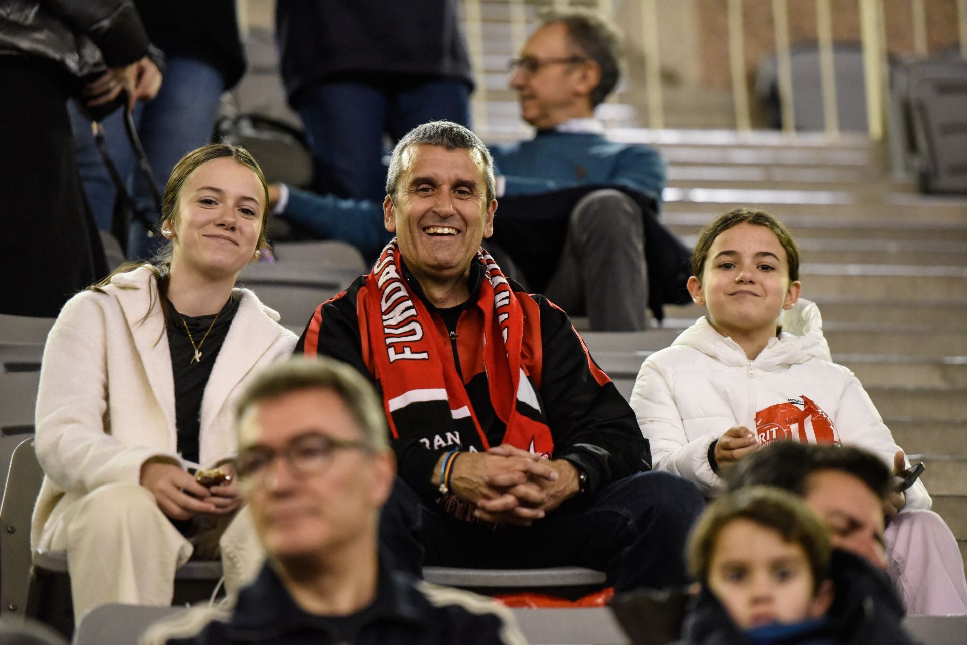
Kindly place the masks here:
[(890, 521), (883, 537), (890, 577), (908, 614), (967, 614), (964, 561), (943, 518), (933, 511), (904, 511)]

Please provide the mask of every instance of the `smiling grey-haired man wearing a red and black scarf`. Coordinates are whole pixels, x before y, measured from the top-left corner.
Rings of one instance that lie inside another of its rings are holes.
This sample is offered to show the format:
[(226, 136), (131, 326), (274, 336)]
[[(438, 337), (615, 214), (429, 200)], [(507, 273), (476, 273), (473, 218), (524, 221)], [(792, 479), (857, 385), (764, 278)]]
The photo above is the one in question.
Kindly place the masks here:
[(413, 129), (383, 202), (396, 238), (316, 309), (299, 342), (382, 394), (399, 478), (381, 539), (417, 575), (429, 564), (580, 565), (619, 591), (684, 583), (701, 495), (650, 472), (634, 414), (567, 314), (481, 247), (494, 194), (475, 134)]

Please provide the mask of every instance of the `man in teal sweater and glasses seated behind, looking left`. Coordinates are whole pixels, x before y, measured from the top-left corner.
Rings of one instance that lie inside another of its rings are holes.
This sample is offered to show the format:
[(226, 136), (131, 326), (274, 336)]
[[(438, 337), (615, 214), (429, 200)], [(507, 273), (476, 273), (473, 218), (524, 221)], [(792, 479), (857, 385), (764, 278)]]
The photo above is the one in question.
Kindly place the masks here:
[[(592, 329), (630, 331), (646, 326), (643, 217), (648, 215), (617, 188), (660, 201), (665, 166), (651, 148), (607, 141), (594, 118), (595, 107), (618, 84), (620, 60), (617, 30), (599, 14), (546, 14), (511, 65), (520, 116), (537, 133), (528, 141), (493, 146), (490, 153), (499, 197), (615, 186), (589, 192), (571, 211), (561, 258), (544, 294), (571, 315), (587, 315)], [(277, 193), (280, 217), (320, 238), (347, 241), (367, 258), (375, 258), (392, 238), (379, 203), (277, 186), (270, 193), (274, 201)], [(508, 264), (492, 243), (487, 250), (502, 266)]]

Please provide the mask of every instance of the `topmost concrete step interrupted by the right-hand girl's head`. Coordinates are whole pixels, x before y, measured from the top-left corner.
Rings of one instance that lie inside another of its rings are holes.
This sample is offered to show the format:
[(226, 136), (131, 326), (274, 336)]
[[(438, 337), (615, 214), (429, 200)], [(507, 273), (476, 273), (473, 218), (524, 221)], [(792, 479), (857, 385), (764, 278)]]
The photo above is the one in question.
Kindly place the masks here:
[[(697, 236), (702, 228), (729, 209), (705, 212), (662, 210), (661, 221), (682, 238)], [(812, 217), (777, 212), (778, 217), (798, 238), (883, 239), (967, 242), (967, 222), (935, 221), (921, 217), (916, 221), (884, 218), (842, 216), (838, 218)]]

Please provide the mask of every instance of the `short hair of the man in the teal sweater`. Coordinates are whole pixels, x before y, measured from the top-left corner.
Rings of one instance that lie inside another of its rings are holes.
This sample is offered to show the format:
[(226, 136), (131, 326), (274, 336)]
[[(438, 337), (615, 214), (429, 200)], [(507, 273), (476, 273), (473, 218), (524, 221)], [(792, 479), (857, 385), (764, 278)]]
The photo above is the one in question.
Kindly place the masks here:
[(541, 14), (541, 27), (563, 24), (568, 38), (582, 56), (601, 69), (601, 82), (591, 91), (591, 107), (608, 98), (621, 80), (621, 60), (624, 58), (621, 32), (614, 23), (590, 9), (547, 10)]

